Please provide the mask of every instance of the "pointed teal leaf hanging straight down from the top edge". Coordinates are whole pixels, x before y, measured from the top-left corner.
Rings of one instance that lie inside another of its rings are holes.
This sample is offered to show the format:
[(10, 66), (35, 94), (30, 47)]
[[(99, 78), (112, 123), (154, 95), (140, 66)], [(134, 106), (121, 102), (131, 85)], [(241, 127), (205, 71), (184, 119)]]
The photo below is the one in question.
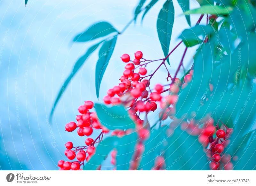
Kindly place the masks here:
[[(157, 34), (161, 43), (162, 50), (164, 52), (164, 56), (167, 56), (169, 53), (173, 22), (174, 7), (172, 1), (167, 0), (158, 14), (158, 19), (156, 23)], [(167, 58), (167, 62), (168, 64), (170, 64), (169, 58)]]

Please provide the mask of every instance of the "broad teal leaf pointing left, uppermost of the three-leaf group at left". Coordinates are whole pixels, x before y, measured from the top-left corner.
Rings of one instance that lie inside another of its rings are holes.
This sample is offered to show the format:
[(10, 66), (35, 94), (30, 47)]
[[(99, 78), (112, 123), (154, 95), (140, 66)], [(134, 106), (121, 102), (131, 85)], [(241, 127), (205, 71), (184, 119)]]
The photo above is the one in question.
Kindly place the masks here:
[(90, 26), (81, 34), (76, 35), (73, 39), (74, 42), (87, 42), (100, 37), (104, 37), (113, 32), (118, 32), (110, 23), (101, 21)]

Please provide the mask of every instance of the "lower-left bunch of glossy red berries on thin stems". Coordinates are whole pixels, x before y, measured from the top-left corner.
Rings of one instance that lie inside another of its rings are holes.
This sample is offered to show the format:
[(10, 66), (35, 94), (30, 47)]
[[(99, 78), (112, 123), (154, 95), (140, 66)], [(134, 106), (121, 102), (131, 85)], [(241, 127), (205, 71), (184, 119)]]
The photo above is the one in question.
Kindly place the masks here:
[(89, 161), (92, 155), (95, 153), (95, 144), (100, 143), (104, 133), (108, 133), (109, 130), (102, 126), (97, 118), (95, 112), (90, 112), (94, 106), (92, 101), (85, 101), (84, 105), (79, 106), (78, 112), (80, 115), (76, 116), (76, 122), (69, 122), (66, 124), (66, 131), (73, 132), (77, 129), (79, 136), (90, 136), (94, 129), (101, 130), (100, 135), (94, 140), (91, 137), (85, 139), (85, 146), (74, 147), (72, 142), (65, 144), (65, 155), (69, 160), (76, 161), (64, 161), (60, 160), (58, 166), (60, 170), (80, 170), (80, 167), (84, 165), (84, 161)]

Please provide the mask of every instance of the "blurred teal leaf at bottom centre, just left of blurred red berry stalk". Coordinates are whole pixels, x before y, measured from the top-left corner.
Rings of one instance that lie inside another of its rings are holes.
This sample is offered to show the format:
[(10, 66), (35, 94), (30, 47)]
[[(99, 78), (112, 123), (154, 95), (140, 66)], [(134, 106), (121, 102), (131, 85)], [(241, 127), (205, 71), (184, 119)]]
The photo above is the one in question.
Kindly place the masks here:
[(129, 169), (132, 155), (134, 154), (135, 150), (135, 145), (137, 143), (137, 139), (137, 133), (133, 132), (132, 134), (129, 135), (128, 139), (119, 141), (118, 146), (116, 147), (116, 170)]

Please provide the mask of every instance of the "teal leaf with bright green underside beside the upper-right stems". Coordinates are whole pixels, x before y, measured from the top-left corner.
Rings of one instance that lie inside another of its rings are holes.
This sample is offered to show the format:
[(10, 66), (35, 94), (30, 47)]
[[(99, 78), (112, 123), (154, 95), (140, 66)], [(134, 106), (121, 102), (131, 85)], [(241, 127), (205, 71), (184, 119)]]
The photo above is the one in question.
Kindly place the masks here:
[(213, 29), (210, 26), (197, 25), (195, 27), (185, 29), (179, 38), (182, 39), (183, 43), (187, 47), (192, 47), (203, 42), (199, 36), (203, 36), (204, 39), (206, 35), (210, 35), (212, 33)]

